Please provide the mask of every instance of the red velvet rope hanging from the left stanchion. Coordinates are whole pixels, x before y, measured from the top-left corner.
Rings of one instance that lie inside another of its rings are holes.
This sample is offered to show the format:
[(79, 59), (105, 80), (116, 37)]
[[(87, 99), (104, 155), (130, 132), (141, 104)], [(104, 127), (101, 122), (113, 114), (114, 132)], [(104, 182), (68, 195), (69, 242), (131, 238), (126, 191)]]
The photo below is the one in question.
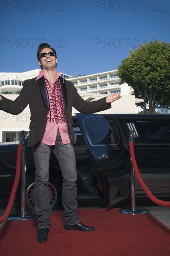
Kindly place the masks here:
[(15, 175), (15, 180), (14, 180), (14, 183), (13, 183), (13, 189), (11, 191), (11, 195), (10, 195), (10, 198), (9, 198), (9, 202), (8, 202), (7, 208), (6, 208), (5, 212), (4, 212), (4, 214), (2, 216), (0, 216), (0, 223), (2, 223), (5, 220), (7, 220), (8, 216), (10, 214), (10, 211), (11, 211), (11, 209), (13, 207), (13, 201), (14, 201), (16, 190), (17, 190), (17, 187), (18, 187), (18, 182), (20, 180), (20, 156), (21, 156), (21, 150), (22, 150), (22, 144), (19, 144), (18, 145), (18, 150), (17, 150), (16, 175)]

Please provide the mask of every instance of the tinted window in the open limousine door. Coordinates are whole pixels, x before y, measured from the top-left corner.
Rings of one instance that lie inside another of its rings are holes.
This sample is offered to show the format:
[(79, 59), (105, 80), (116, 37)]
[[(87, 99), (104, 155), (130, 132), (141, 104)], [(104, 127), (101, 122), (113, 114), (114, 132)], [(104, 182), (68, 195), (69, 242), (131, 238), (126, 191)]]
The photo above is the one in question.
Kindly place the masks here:
[(87, 117), (83, 124), (92, 145), (113, 144), (115, 142), (113, 132), (104, 118)]

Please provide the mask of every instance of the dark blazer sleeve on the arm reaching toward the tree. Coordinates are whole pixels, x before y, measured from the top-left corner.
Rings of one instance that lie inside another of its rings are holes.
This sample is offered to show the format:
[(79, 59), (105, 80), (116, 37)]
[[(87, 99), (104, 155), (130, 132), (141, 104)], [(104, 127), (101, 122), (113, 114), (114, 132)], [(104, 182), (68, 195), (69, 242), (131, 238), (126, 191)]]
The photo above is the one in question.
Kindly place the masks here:
[(76, 108), (82, 114), (92, 114), (95, 112), (104, 111), (111, 108), (111, 103), (106, 103), (106, 97), (97, 101), (85, 101), (77, 92), (76, 88), (72, 84), (73, 90), (73, 107)]

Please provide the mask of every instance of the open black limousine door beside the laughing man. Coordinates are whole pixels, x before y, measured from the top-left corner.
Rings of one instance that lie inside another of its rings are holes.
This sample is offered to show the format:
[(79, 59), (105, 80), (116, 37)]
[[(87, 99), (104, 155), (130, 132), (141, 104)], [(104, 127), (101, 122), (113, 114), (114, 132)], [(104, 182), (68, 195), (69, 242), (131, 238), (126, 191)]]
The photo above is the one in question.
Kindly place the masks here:
[[(96, 162), (95, 174), (102, 192), (110, 202), (120, 202), (129, 195), (130, 156), (116, 133), (102, 115), (76, 114), (81, 133)], [(116, 121), (110, 120), (116, 125)]]

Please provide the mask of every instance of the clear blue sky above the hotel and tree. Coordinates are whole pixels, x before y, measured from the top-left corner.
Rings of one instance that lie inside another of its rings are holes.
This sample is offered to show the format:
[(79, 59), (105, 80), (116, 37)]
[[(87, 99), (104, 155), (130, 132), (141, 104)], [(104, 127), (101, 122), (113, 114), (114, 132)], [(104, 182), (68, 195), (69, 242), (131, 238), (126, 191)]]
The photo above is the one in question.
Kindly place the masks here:
[(74, 76), (117, 69), (140, 42), (170, 41), (169, 0), (1, 0), (0, 10), (0, 72), (39, 68), (42, 42)]

